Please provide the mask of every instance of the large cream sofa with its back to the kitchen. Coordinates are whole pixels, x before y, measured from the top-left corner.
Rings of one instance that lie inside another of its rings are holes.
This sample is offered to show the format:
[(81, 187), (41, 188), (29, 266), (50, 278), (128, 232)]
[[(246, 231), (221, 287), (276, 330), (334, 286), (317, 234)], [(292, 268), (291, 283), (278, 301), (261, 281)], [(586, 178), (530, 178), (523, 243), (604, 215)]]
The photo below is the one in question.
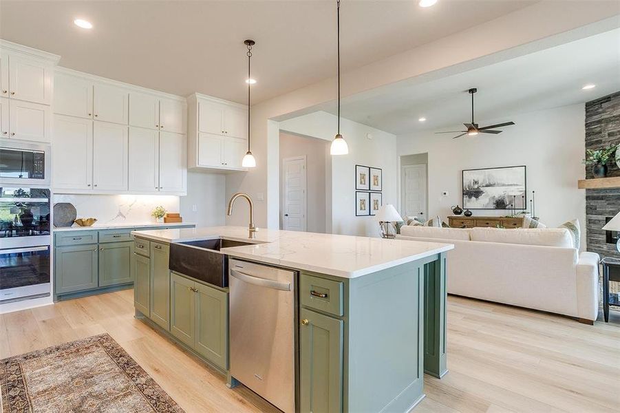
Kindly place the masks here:
[(449, 294), (597, 319), (599, 255), (579, 253), (567, 229), (403, 226), (397, 238), (454, 244)]

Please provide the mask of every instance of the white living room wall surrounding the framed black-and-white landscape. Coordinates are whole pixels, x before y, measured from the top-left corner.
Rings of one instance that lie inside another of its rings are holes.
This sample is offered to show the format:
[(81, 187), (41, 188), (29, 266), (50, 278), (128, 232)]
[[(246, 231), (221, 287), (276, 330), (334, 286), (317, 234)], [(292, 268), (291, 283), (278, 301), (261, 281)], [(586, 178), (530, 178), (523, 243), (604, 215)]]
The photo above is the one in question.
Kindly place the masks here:
[[(536, 215), (547, 226), (579, 218), (585, 246), (586, 193), (577, 189), (585, 178), (584, 105), (570, 105), (482, 124), (513, 120), (502, 134), (462, 136), (435, 131), (398, 136), (398, 154), (428, 153), (429, 216), (451, 215), (451, 205), (462, 206), (462, 170), (526, 165), (528, 200), (536, 191)], [(462, 126), (460, 126), (462, 127)], [(446, 127), (443, 130), (459, 130)], [(442, 191), (449, 196), (442, 197)], [(529, 202), (529, 201), (528, 201)], [(473, 210), (474, 215), (506, 215), (510, 211)]]

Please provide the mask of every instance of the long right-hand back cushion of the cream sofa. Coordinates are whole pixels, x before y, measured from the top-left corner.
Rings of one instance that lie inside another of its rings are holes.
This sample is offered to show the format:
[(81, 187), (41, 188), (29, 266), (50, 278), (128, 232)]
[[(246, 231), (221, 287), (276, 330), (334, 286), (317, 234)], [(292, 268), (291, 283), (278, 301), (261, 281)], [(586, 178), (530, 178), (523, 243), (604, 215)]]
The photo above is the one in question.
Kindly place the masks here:
[(525, 244), (573, 248), (573, 239), (565, 228), (498, 229), (472, 228), (472, 241), (502, 242), (504, 244)]

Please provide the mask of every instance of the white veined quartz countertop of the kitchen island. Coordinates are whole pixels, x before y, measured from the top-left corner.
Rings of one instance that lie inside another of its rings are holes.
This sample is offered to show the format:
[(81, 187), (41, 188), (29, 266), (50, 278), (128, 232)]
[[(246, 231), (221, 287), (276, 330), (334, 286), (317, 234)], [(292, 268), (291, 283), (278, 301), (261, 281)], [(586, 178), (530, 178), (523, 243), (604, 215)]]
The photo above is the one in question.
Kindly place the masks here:
[(213, 226), (194, 229), (133, 231), (133, 235), (159, 242), (188, 242), (222, 237), (253, 245), (222, 248), (222, 253), (254, 262), (299, 270), (360, 277), (449, 251), (453, 244), (383, 238), (354, 237), (277, 229), (259, 229), (248, 239), (245, 226)]

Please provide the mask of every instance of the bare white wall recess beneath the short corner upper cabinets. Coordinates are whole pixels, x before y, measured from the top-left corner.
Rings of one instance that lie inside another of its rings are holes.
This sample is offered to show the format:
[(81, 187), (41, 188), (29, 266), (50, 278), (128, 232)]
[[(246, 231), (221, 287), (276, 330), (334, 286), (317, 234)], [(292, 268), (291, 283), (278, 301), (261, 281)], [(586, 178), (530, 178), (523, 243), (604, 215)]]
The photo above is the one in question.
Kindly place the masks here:
[[(193, 211), (195, 207), (196, 211)], [(219, 173), (187, 172), (187, 195), (180, 197), (180, 212), (196, 226), (224, 225), (226, 178)]]

